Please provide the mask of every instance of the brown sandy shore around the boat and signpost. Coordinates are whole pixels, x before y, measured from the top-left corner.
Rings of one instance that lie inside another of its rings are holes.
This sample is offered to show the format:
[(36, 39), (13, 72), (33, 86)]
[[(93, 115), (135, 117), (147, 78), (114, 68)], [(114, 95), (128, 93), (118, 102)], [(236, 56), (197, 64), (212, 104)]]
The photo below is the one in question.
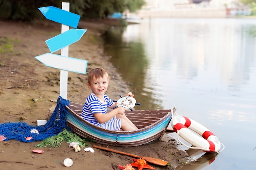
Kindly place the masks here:
[[(110, 23), (109, 23), (110, 22)], [(108, 23), (108, 24), (107, 24)], [(88, 29), (78, 42), (69, 46), (69, 56), (88, 60), (87, 73), (91, 68), (101, 66), (110, 75), (107, 95), (116, 100), (119, 95), (128, 92), (128, 86), (117, 73), (117, 69), (104, 54), (101, 33), (116, 22), (110, 20), (82, 21), (81, 29)], [(56, 104), (59, 95), (59, 69), (47, 67), (34, 57), (49, 52), (45, 40), (61, 32), (60, 24), (35, 21), (32, 24), (0, 21), (0, 46), (10, 47), (0, 58), (0, 124), (24, 121), (36, 126), (37, 120), (46, 119), (49, 108)], [(57, 54), (60, 53), (57, 51)], [(83, 104), (90, 94), (86, 86), (87, 74), (68, 72), (67, 99), (70, 102)], [(135, 96), (136, 97), (136, 96)], [(23, 143), (16, 140), (0, 141), (0, 166), (8, 170), (34, 170), (50, 168), (63, 169), (63, 160), (71, 158), (74, 169), (120, 170), (118, 165), (132, 163), (132, 157), (96, 150), (95, 153), (70, 152), (69, 144), (62, 142), (59, 148), (36, 148), (41, 141)], [(95, 143), (87, 142), (89, 147)], [(98, 144), (97, 144), (98, 145)], [(104, 145), (101, 145), (104, 146)], [(161, 141), (137, 147), (109, 148), (123, 152), (156, 157), (168, 161), (168, 166), (151, 165), (155, 170), (169, 170), (184, 165), (188, 156), (184, 150), (177, 149), (177, 142), (164, 135)], [(104, 146), (106, 147), (106, 146)], [(44, 150), (43, 154), (35, 154), (33, 149)]]

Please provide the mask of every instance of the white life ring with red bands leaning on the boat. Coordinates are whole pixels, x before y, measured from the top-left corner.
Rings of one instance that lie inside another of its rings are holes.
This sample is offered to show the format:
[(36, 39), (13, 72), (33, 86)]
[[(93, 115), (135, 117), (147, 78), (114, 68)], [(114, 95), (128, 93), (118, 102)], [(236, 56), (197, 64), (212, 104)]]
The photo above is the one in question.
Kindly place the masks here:
[[(176, 108), (174, 108), (174, 113), (175, 110)], [(177, 113), (173, 115), (173, 108), (171, 119), (171, 126), (173, 127), (173, 130), (177, 132), (177, 134), (180, 135), (180, 137), (182, 137), (184, 140), (197, 147), (197, 149), (202, 149), (206, 152), (220, 151), (221, 143), (219, 139), (206, 127), (192, 119), (189, 119), (188, 117), (177, 115)], [(191, 130), (196, 132), (198, 135)]]

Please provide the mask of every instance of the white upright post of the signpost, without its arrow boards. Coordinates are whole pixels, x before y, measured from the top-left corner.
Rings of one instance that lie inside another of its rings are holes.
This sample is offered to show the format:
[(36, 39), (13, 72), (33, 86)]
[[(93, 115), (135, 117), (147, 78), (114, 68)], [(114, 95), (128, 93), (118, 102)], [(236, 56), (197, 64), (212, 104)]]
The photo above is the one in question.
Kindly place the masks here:
[[(69, 2), (62, 2), (62, 9), (65, 11), (70, 11), (70, 3)], [(70, 29), (69, 26), (61, 24), (61, 33), (68, 31)], [(61, 49), (61, 55), (68, 57), (68, 46)], [(67, 99), (67, 73), (68, 71), (61, 70), (60, 75), (60, 96), (63, 99)]]

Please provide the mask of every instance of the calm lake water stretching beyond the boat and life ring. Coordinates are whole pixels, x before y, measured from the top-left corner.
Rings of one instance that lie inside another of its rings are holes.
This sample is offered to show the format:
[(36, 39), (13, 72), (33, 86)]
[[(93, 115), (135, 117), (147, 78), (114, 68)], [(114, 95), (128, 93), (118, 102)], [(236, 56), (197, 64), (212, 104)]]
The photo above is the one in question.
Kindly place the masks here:
[(256, 169), (255, 19), (143, 19), (105, 38), (105, 52), (141, 104), (135, 109), (176, 107), (225, 145), (176, 169)]

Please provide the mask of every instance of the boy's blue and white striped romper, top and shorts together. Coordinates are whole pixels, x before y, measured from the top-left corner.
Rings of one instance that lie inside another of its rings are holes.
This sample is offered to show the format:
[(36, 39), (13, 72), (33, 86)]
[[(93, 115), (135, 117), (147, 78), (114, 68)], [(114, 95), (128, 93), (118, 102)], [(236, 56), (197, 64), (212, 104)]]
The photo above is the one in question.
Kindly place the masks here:
[(99, 98), (96, 95), (94, 95), (94, 93), (91, 93), (87, 97), (85, 104), (83, 105), (81, 117), (87, 120), (88, 122), (95, 124), (101, 128), (105, 128), (108, 130), (120, 130), (121, 119), (117, 119), (116, 116), (103, 124), (100, 124), (94, 117), (94, 113), (105, 114), (107, 112), (107, 108), (114, 104), (106, 94), (104, 94), (103, 97), (105, 102), (100, 101)]

